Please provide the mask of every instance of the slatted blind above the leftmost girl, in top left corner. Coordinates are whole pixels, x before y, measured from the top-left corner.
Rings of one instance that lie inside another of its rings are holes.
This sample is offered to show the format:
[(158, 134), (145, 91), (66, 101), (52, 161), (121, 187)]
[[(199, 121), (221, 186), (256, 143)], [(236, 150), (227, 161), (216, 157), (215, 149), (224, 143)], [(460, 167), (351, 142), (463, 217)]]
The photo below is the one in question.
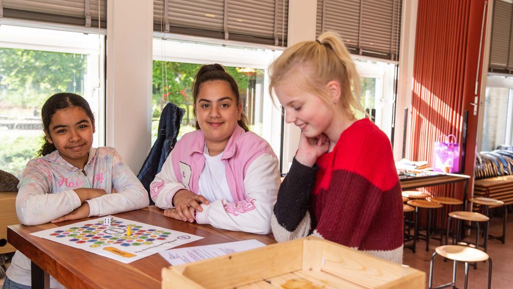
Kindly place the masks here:
[(0, 0), (0, 17), (78, 26), (106, 27), (107, 0)]

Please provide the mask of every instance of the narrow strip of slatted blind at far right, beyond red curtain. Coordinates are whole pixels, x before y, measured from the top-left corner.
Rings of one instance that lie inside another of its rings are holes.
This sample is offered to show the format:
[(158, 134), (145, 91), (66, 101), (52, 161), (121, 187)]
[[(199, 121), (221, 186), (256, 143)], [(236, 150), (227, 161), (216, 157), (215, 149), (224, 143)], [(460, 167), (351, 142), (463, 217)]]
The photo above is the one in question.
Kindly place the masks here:
[(513, 73), (512, 17), (513, 4), (510, 1), (494, 2), (489, 62), (491, 72)]

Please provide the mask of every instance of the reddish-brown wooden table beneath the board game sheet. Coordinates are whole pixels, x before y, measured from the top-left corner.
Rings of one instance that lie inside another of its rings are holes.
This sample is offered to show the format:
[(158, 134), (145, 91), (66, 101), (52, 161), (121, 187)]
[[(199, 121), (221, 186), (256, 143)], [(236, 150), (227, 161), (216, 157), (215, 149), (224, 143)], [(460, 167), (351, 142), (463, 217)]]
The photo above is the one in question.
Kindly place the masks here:
[[(257, 239), (265, 244), (276, 243), (272, 234), (259, 235), (227, 231), (208, 225), (185, 223), (167, 218), (163, 212), (155, 206), (150, 206), (141, 210), (114, 214), (114, 216), (204, 237), (204, 239), (180, 247), (249, 239)], [(161, 288), (161, 270), (169, 266), (169, 263), (159, 254), (130, 264), (123, 264), (30, 234), (96, 218), (67, 221), (58, 223), (58, 225), (47, 223), (38, 226), (13, 225), (8, 227), (9, 243), (32, 260), (32, 288), (49, 288), (48, 274), (68, 288)]]

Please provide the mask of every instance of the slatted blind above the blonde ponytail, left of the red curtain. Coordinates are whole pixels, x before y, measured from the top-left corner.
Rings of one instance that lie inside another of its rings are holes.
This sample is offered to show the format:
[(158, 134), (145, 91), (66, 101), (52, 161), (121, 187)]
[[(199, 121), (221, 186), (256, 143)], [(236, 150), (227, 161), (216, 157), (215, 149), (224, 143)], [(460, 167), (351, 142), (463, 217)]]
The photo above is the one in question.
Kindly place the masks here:
[(353, 54), (399, 60), (402, 0), (318, 0), (317, 29), (338, 32)]

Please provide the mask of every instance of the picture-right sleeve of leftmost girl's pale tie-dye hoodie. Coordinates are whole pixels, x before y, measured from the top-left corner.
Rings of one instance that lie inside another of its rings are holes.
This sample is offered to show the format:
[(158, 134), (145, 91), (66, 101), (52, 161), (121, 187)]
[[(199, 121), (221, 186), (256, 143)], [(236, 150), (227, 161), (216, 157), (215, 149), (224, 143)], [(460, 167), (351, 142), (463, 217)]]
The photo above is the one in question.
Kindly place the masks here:
[(148, 207), (148, 193), (139, 179), (114, 151), (112, 158), (112, 187), (116, 193), (87, 200), (89, 216), (102, 216)]

